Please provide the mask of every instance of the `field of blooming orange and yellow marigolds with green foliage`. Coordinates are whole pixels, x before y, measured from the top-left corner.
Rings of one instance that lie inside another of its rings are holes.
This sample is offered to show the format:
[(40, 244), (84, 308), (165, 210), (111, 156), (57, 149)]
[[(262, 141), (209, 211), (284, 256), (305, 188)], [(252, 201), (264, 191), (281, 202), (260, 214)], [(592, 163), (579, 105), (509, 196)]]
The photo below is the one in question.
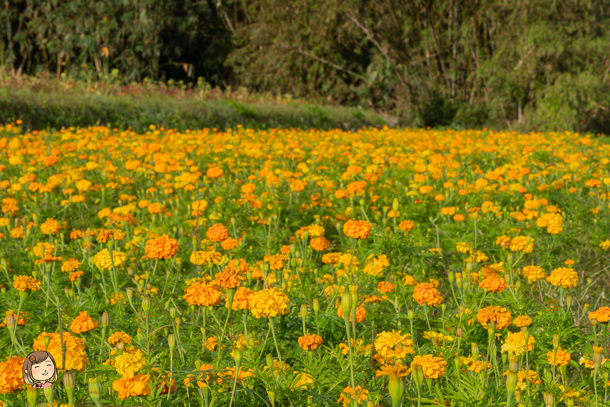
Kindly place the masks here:
[(568, 132), (1, 126), (2, 405), (608, 406), (609, 157)]

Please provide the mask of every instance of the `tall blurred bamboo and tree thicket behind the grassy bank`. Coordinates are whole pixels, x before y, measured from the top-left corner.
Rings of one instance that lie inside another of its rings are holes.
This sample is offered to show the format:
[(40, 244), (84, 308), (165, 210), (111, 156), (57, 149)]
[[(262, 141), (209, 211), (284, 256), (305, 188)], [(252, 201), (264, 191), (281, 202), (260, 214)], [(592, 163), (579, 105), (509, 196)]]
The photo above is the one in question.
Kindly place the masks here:
[(411, 126), (610, 133), (610, 0), (9, 0), (0, 65), (373, 107)]

